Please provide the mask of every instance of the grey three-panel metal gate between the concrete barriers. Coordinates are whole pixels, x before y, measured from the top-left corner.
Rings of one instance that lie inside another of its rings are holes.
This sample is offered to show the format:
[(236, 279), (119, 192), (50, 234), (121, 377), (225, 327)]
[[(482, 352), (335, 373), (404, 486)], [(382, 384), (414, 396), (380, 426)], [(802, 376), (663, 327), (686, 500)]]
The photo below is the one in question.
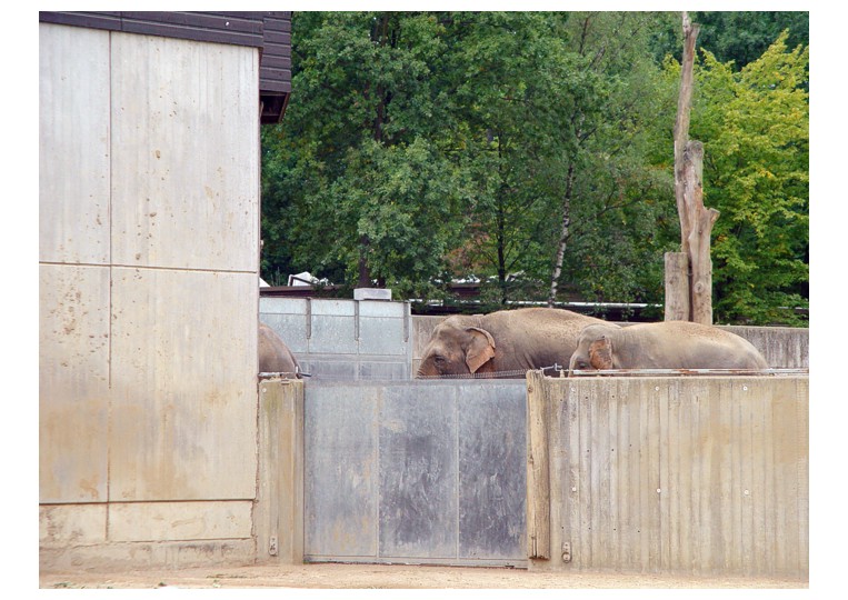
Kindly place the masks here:
[(527, 566), (526, 382), (309, 381), (305, 560)]

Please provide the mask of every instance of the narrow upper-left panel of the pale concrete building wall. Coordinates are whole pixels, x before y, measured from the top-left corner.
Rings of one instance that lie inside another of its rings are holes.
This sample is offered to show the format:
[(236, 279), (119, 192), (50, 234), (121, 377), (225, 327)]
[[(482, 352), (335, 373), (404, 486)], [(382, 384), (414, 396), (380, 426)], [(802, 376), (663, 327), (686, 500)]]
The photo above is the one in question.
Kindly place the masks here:
[(39, 26), (39, 260), (109, 262), (109, 33)]

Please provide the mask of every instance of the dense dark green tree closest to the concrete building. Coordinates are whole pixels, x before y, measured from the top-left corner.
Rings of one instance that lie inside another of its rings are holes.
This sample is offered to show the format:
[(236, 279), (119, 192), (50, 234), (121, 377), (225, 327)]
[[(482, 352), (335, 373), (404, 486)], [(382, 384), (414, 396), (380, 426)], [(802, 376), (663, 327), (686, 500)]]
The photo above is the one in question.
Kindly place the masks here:
[(462, 193), (440, 149), (451, 129), (442, 24), (426, 13), (297, 12), (292, 28), (297, 100), (263, 134), (268, 254), (287, 243), (292, 267), (426, 286)]

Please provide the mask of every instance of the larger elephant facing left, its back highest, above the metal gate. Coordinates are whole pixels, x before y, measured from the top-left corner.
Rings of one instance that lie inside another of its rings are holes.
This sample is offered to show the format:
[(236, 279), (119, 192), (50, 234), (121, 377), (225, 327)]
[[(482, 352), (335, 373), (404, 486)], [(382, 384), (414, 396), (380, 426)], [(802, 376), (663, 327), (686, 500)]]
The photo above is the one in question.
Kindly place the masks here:
[(433, 330), (417, 377), (476, 374), (520, 379), (531, 369), (555, 363), (565, 368), (580, 330), (605, 322), (555, 308), (453, 314)]

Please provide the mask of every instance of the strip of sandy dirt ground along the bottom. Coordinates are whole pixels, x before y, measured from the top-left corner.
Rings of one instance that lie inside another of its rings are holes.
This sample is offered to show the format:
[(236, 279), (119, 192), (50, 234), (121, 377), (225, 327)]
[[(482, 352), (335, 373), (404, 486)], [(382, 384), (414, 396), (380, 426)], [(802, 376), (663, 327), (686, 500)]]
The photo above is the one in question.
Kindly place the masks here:
[(553, 573), (523, 569), (396, 564), (250, 566), (130, 572), (39, 573), (41, 589), (807, 589), (806, 580), (695, 578), (608, 572)]

